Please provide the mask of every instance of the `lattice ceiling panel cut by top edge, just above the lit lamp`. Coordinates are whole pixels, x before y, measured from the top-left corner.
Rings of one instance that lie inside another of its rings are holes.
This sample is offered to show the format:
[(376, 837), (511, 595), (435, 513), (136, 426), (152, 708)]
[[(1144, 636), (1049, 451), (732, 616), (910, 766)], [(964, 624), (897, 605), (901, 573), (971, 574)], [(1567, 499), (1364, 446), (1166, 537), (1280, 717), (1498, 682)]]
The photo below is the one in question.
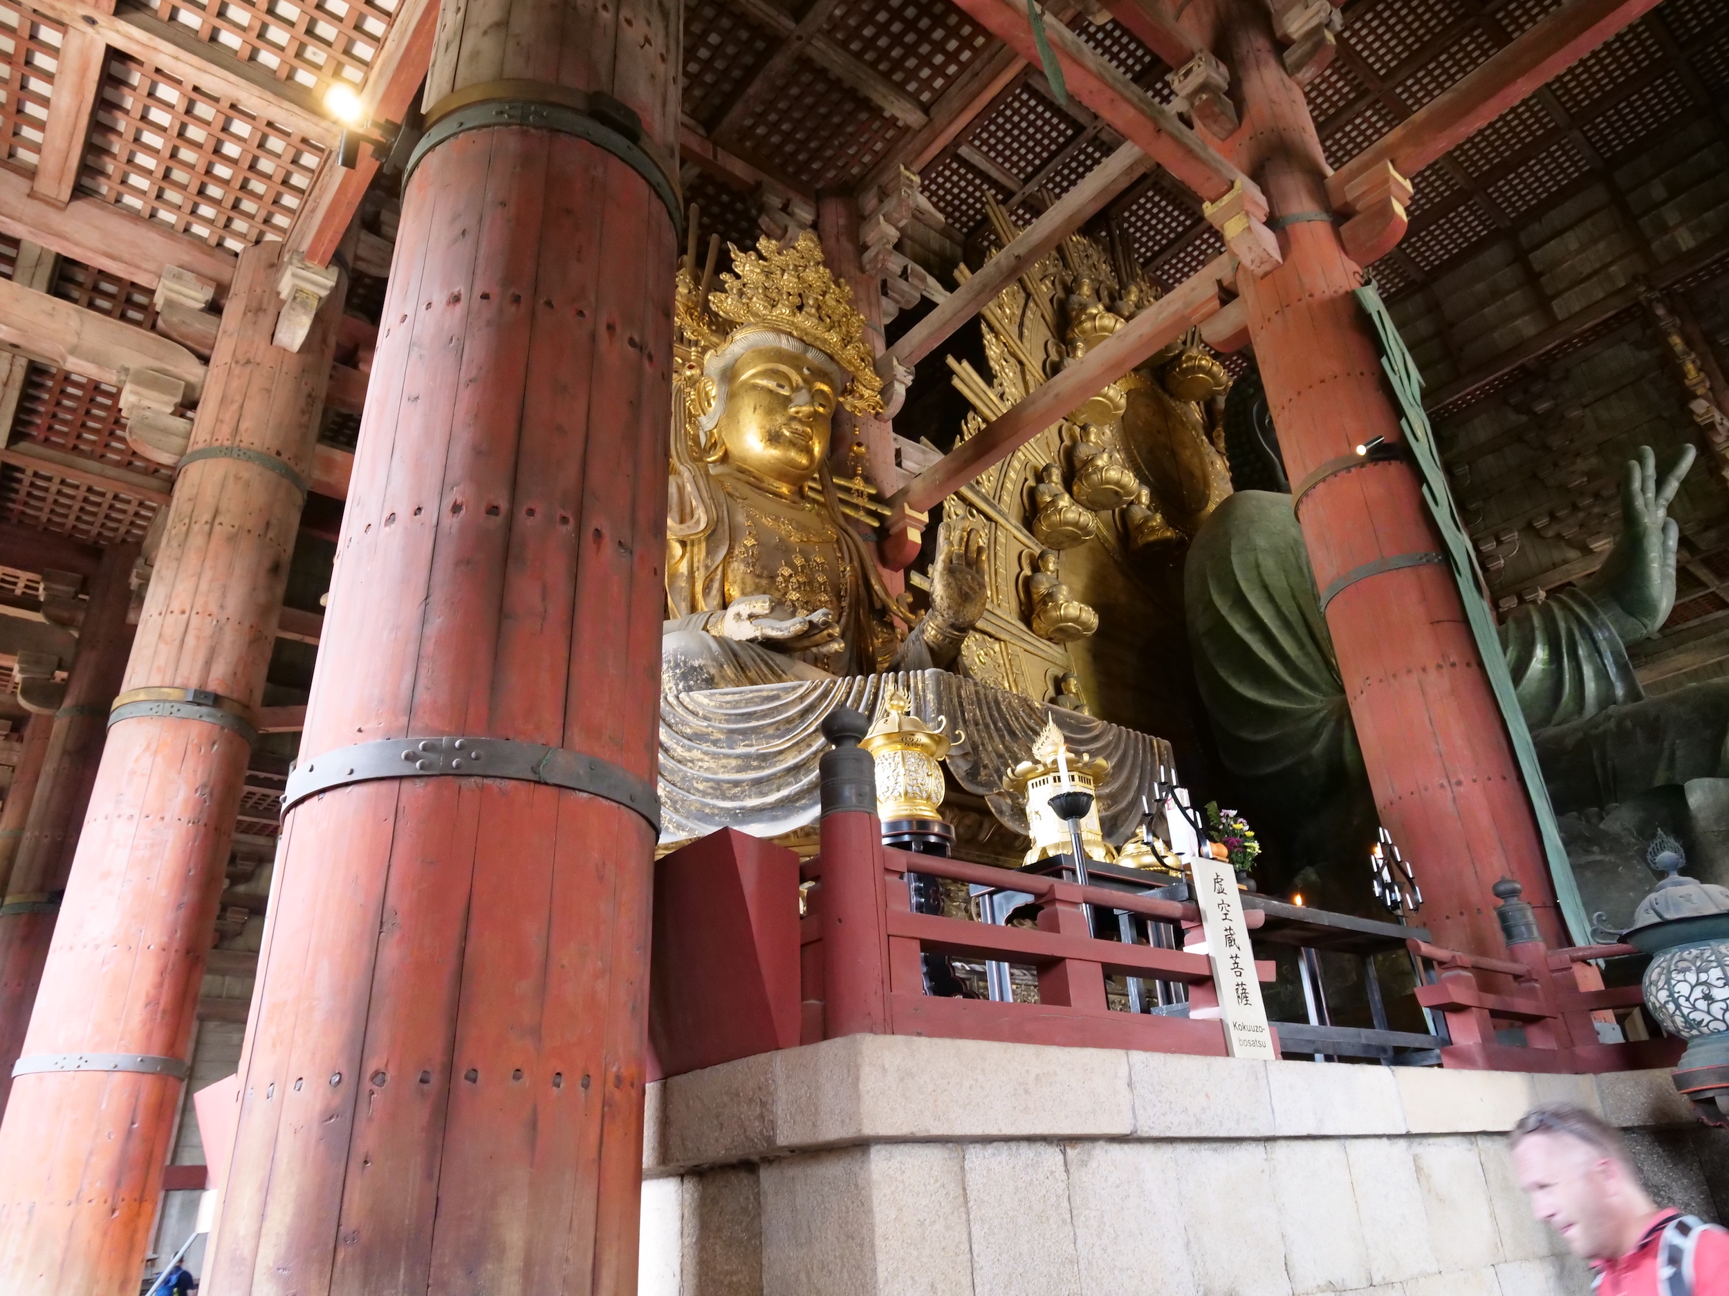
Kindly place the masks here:
[(240, 62), (323, 95), (363, 86), (399, 0), (144, 0)]

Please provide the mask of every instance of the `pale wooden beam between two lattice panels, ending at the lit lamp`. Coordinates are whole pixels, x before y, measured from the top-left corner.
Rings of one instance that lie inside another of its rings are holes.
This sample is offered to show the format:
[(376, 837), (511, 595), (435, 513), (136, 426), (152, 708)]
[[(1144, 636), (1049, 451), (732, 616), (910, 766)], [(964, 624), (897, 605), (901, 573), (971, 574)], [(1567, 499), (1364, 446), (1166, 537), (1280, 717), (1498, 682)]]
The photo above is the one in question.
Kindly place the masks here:
[(107, 45), (144, 59), (173, 76), (195, 81), (244, 107), (290, 126), (323, 145), (334, 145), (342, 128), (325, 116), (311, 92), (280, 81), (268, 69), (235, 59), (221, 45), (199, 40), (180, 22), (164, 22), (144, 9), (107, 12), (100, 0), (31, 0), (48, 17), (100, 36)]

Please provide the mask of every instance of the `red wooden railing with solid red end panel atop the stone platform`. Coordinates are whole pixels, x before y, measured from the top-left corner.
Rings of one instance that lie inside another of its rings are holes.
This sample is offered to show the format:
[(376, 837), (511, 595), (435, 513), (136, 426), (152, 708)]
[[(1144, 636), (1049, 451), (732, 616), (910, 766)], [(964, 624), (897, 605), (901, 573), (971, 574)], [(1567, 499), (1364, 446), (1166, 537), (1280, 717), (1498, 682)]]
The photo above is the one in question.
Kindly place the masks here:
[[(845, 809), (823, 817), (821, 854), (802, 866), (794, 852), (731, 829), (660, 861), (650, 1014), (660, 1073), (856, 1033), (1226, 1052), (1209, 959), (1098, 940), (1082, 909), (1127, 911), (1198, 937), (1195, 905), (1017, 873), (1011, 886), (1032, 897), (1037, 930), (922, 914), (909, 873), (986, 886), (1003, 886), (1006, 874), (884, 847), (880, 831), (875, 814)], [(1534, 933), (1511, 921), (1515, 907), (1516, 888), (1503, 905), (1504, 930)], [(1248, 909), (1245, 921), (1259, 928), (1264, 914)], [(1605, 990), (1589, 961), (1634, 952), (1627, 945), (1549, 950), (1518, 940), (1506, 959), (1423, 940), (1409, 949), (1435, 971), (1416, 997), (1445, 1020), (1444, 1066), (1585, 1073), (1670, 1066), (1681, 1054), (1681, 1040), (1598, 1042), (1592, 1014), (1639, 1004), (1641, 994)], [(928, 995), (923, 954), (1030, 964), (1039, 1002)], [(1262, 982), (1273, 968), (1255, 962)], [(1186, 983), (1190, 1016), (1112, 1011), (1105, 978), (1115, 975)], [(1523, 1047), (1497, 1040), (1508, 1025), (1523, 1026)]]

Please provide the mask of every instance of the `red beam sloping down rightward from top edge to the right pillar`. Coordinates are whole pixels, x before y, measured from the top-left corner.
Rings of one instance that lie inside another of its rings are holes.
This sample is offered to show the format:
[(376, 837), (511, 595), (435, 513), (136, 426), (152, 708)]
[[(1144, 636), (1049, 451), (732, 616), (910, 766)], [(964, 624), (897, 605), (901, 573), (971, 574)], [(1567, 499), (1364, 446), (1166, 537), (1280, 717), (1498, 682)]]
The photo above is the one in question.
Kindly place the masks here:
[[(1039, 57), (1025, 9), (1010, 0), (960, 0), (960, 5), (1020, 57), (1029, 62)], [(1108, 121), (1122, 138), (1138, 143), (1141, 152), (1209, 202), (1241, 185), (1257, 204), (1264, 204), (1255, 181), (1091, 45), (1055, 17), (1048, 17), (1044, 28), (1069, 93)]]

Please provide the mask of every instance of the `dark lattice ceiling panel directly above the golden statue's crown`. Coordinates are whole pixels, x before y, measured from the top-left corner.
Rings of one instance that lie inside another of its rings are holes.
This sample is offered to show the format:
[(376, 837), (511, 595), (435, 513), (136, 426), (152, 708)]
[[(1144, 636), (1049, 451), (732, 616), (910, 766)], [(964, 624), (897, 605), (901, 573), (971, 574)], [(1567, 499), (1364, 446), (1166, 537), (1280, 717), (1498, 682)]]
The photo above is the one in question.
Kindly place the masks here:
[(821, 67), (795, 64), (782, 90), (743, 121), (737, 142), (811, 188), (854, 188), (904, 133)]

